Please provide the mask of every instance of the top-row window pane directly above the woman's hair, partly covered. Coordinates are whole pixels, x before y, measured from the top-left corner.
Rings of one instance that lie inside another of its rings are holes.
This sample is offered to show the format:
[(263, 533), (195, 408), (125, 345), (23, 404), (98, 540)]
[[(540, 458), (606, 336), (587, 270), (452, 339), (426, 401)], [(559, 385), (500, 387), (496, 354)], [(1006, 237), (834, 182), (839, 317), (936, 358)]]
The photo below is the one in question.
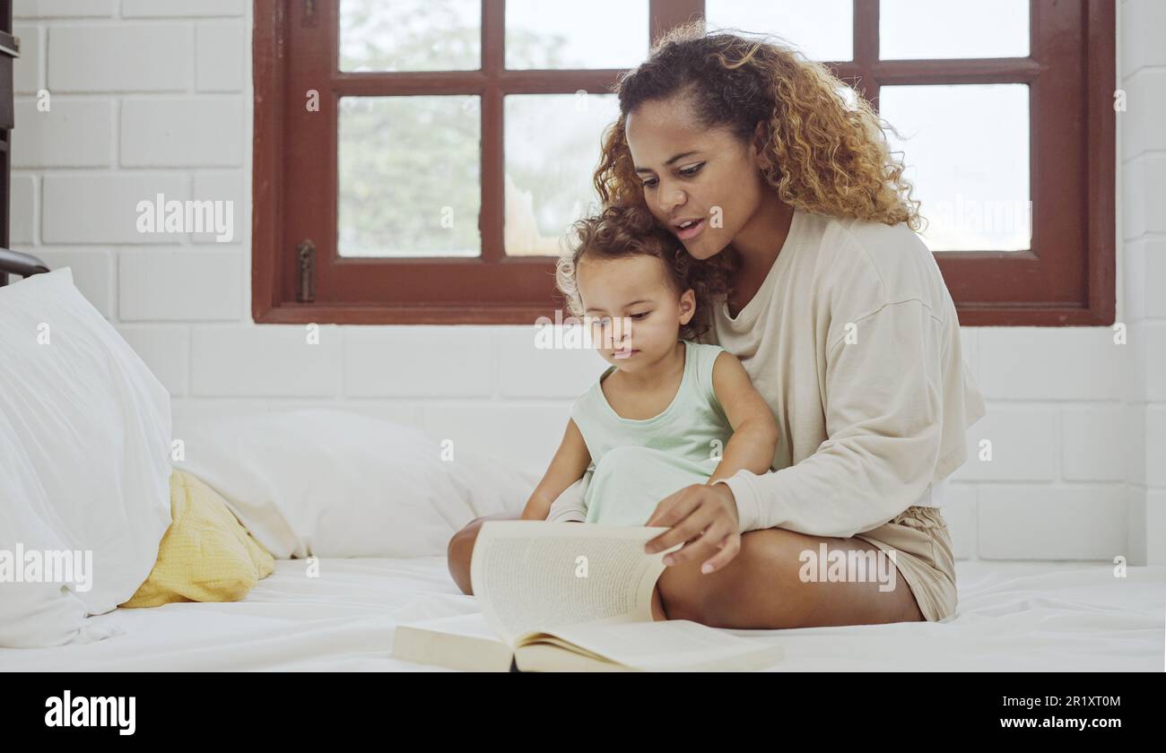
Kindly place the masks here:
[(708, 27), (772, 34), (812, 61), (854, 59), (851, 0), (707, 0)]

